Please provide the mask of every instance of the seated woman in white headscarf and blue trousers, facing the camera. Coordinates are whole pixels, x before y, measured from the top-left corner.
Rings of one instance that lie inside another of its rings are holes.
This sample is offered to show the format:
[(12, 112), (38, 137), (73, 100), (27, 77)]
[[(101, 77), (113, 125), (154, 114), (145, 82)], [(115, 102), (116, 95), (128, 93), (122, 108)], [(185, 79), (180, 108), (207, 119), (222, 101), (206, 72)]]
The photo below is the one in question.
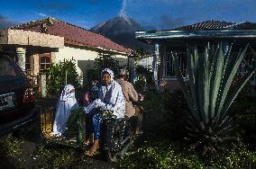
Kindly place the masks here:
[[(93, 156), (99, 148), (100, 124), (103, 116), (100, 111), (113, 111), (117, 119), (124, 118), (125, 102), (122, 87), (114, 81), (114, 73), (111, 69), (105, 68), (101, 73), (102, 86), (99, 89), (98, 99), (85, 108), (86, 112), (93, 113), (94, 143), (90, 147), (88, 155)], [(99, 111), (100, 110), (100, 111)]]

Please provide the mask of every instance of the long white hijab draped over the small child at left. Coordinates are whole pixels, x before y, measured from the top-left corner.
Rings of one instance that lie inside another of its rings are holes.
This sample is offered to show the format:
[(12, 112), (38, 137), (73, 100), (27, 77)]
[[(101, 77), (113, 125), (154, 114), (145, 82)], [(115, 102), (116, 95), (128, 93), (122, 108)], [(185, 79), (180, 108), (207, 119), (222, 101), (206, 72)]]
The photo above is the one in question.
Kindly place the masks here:
[(52, 135), (60, 136), (63, 134), (66, 130), (66, 123), (69, 119), (70, 111), (78, 108), (75, 93), (70, 93), (73, 89), (75, 89), (73, 85), (67, 84), (60, 94), (53, 123)]

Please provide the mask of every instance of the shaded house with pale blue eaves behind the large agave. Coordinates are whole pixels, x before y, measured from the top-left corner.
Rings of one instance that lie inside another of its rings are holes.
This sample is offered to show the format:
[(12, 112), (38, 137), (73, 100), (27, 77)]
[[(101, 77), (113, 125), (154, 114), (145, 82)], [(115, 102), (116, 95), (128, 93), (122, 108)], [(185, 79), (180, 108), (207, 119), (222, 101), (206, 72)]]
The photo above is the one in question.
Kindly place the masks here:
[[(145, 43), (155, 46), (153, 58), (153, 79), (157, 86), (165, 86), (170, 90), (178, 87), (174, 72), (172, 56), (178, 54), (183, 76), (187, 78), (187, 47), (197, 46), (203, 53), (208, 42), (222, 42), (224, 49), (233, 44), (233, 53), (250, 44), (256, 49), (256, 23), (252, 22), (222, 22), (206, 21), (164, 31), (136, 31), (135, 37)], [(245, 62), (255, 64), (252, 53), (248, 50), (240, 68), (240, 73), (247, 71)], [(255, 84), (255, 76), (252, 84)]]

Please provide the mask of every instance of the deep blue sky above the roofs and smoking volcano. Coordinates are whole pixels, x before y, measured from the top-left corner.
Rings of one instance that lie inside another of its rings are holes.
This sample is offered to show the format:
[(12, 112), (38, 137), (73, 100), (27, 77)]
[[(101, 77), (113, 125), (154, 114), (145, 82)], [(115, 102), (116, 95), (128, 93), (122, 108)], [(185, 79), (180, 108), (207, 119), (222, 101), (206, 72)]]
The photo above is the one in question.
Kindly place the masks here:
[(0, 28), (51, 16), (90, 29), (120, 15), (147, 30), (208, 20), (256, 22), (256, 0), (0, 0)]

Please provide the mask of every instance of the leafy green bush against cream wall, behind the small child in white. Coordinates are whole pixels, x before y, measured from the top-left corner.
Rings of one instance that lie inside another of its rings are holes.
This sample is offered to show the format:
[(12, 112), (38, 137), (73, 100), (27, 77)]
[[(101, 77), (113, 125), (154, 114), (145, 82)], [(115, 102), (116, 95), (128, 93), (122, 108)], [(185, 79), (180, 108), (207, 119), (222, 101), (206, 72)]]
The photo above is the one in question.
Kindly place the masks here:
[(59, 93), (62, 90), (66, 81), (66, 72), (68, 72), (67, 84), (72, 84), (75, 88), (79, 86), (75, 60), (64, 59), (64, 61), (53, 64), (46, 70), (46, 87), (48, 93)]

